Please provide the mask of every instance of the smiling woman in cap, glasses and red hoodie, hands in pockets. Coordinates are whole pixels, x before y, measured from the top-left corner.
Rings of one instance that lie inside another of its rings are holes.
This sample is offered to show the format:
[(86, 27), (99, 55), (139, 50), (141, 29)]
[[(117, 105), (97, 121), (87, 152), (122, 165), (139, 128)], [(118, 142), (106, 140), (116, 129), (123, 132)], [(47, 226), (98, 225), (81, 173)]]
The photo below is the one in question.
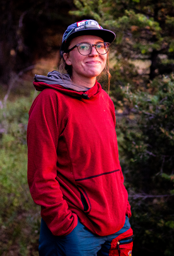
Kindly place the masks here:
[(95, 20), (74, 23), (60, 51), (68, 74), (35, 76), (42, 92), (29, 111), (28, 182), (41, 205), (40, 256), (131, 256), (115, 110), (96, 81), (114, 39)]

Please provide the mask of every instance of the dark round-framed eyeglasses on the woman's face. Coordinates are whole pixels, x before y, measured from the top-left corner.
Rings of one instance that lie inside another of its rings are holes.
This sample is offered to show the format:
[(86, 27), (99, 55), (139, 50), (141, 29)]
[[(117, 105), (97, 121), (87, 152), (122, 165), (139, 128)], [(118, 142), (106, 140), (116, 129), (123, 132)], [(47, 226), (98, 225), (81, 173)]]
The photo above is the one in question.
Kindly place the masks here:
[(106, 54), (109, 50), (110, 43), (106, 43), (106, 42), (97, 43), (97, 44), (80, 43), (80, 44), (76, 44), (74, 47), (67, 50), (67, 52), (70, 52), (73, 49), (75, 49), (75, 47), (77, 47), (78, 52), (81, 55), (89, 55), (92, 52), (93, 46), (96, 48), (96, 51), (99, 54)]

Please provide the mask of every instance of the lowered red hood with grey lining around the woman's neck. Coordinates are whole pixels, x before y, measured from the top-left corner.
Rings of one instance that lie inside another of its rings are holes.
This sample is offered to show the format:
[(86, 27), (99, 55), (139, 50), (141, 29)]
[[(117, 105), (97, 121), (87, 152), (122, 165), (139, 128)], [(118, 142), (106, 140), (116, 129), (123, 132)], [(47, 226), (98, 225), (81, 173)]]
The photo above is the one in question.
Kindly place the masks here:
[(58, 71), (49, 72), (47, 76), (35, 75), (34, 87), (38, 91), (45, 88), (51, 88), (64, 94), (80, 97), (83, 99), (92, 99), (102, 91), (101, 85), (96, 81), (92, 88), (80, 87), (73, 83), (68, 74), (61, 74)]

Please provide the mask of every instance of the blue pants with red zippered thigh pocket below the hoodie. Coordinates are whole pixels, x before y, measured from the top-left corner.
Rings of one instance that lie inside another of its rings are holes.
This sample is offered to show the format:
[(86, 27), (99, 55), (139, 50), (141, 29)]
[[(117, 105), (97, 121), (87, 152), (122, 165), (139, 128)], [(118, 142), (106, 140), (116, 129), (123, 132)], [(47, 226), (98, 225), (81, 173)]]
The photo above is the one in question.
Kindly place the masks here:
[(79, 220), (77, 226), (67, 236), (53, 236), (42, 219), (39, 256), (131, 256), (132, 237), (127, 216), (124, 227), (109, 236), (93, 234)]

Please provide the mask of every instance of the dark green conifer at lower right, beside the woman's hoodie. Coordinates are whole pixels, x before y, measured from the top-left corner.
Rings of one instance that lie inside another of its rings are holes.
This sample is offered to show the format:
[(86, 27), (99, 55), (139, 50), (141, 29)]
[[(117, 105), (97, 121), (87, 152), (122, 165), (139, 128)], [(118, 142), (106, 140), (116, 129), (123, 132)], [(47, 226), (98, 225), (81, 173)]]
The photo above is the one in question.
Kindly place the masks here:
[[(128, 114), (122, 116), (116, 130), (122, 133), (122, 141), (118, 142), (132, 206), (136, 250), (141, 244), (147, 250), (162, 250), (165, 255), (171, 255), (174, 250), (174, 75), (154, 79), (144, 91), (122, 87), (122, 93)], [(139, 192), (144, 195), (142, 201), (136, 199)], [(146, 195), (157, 197), (146, 198)]]

